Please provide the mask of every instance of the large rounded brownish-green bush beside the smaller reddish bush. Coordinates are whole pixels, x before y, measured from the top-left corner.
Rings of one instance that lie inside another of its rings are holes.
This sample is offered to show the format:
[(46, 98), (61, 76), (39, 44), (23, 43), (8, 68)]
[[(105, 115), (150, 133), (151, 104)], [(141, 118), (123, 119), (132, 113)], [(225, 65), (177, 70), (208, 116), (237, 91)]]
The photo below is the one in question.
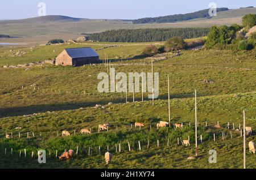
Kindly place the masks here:
[(164, 44), (164, 50), (166, 52), (184, 49), (185, 47), (186, 47), (185, 41), (183, 40), (182, 37), (178, 37), (178, 36), (170, 38), (170, 40), (167, 40), (166, 43)]

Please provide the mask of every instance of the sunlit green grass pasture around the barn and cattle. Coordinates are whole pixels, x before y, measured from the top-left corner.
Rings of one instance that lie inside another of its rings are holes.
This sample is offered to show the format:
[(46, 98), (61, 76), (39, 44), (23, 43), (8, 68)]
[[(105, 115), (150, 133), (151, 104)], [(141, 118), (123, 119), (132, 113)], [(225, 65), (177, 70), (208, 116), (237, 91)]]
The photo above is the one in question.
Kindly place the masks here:
[[(158, 46), (162, 43), (154, 42)], [(93, 49), (100, 49), (110, 45), (119, 46), (97, 52), (101, 59), (105, 58), (105, 53), (108, 54), (117, 72), (151, 72), (150, 59), (142, 55), (146, 44), (106, 42), (0, 48), (0, 66), (54, 58), (64, 48), (92, 46)], [(13, 57), (19, 49), (26, 54)], [(242, 168), (240, 132), (225, 127), (230, 122), (230, 126), (234, 123), (235, 128), (238, 128), (242, 124), (242, 110), (246, 109), (247, 126), (251, 126), (254, 131), (246, 140), (247, 143), (250, 140), (255, 142), (255, 55), (255, 49), (245, 52), (183, 50), (179, 57), (155, 62), (154, 71), (159, 72), (160, 96), (154, 106), (151, 101), (126, 104), (125, 93), (98, 93), (97, 84), (100, 80), (97, 80), (97, 75), (107, 72), (103, 64), (83, 67), (47, 64), (26, 68), (1, 67), (0, 168)], [(168, 121), (168, 74), (171, 78), (171, 121), (183, 122), (185, 127), (182, 130), (156, 130), (156, 123)], [(205, 84), (205, 79), (213, 80), (213, 83)], [(31, 86), (33, 84), (36, 84), (35, 88)], [(195, 89), (199, 96), (199, 135), (202, 135), (203, 143), (199, 143), (200, 156), (196, 160), (187, 160), (187, 157), (195, 154)], [(147, 95), (144, 94), (145, 100)], [(133, 93), (128, 93), (128, 100), (133, 101)], [(135, 93), (135, 101), (141, 101), (141, 93)], [(106, 105), (109, 102), (114, 102), (114, 105)], [(104, 105), (105, 109), (93, 108), (96, 104)], [(208, 127), (204, 127), (205, 121)], [(212, 127), (217, 121), (222, 126), (220, 130)], [(98, 134), (97, 126), (106, 122), (112, 125), (109, 132)], [(146, 127), (131, 130), (131, 123), (134, 122), (143, 122)], [(22, 129), (15, 130), (16, 127)], [(92, 128), (93, 134), (79, 135), (81, 128)], [(61, 138), (63, 130), (70, 131), (72, 136)], [(5, 139), (5, 134), (10, 135), (11, 132), (13, 139)], [(18, 138), (19, 132), (21, 138)], [(222, 140), (222, 132), (225, 132), (225, 140)], [(216, 142), (213, 142), (214, 133)], [(187, 139), (188, 136), (191, 147), (177, 145), (177, 138)], [(139, 151), (138, 141), (141, 142), (142, 151)], [(127, 142), (131, 144), (131, 152)], [(119, 143), (122, 151), (116, 153), (115, 144)], [(106, 166), (103, 154), (108, 145), (114, 158)], [(79, 154), (73, 160), (60, 162), (55, 158), (56, 150), (61, 153), (65, 149), (76, 150), (77, 146)], [(98, 155), (98, 146), (101, 147), (101, 155)], [(90, 156), (89, 147), (92, 153)], [(13, 156), (10, 154), (11, 148)], [(38, 149), (46, 149), (47, 156), (51, 151), (47, 164), (39, 165), (35, 156), (31, 159), (31, 152), (36, 153)], [(217, 151), (217, 164), (208, 162), (210, 149)], [(19, 158), (20, 151), (22, 154)], [(255, 168), (255, 161), (247, 148), (247, 168)]]

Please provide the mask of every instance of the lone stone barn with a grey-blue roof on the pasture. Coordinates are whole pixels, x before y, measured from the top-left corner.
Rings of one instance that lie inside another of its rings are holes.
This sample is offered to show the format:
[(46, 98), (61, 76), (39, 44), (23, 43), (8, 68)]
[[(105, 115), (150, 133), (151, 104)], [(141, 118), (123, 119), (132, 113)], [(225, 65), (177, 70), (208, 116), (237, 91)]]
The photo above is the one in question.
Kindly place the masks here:
[(82, 66), (90, 63), (100, 63), (100, 59), (95, 50), (87, 48), (64, 49), (56, 57), (56, 66)]

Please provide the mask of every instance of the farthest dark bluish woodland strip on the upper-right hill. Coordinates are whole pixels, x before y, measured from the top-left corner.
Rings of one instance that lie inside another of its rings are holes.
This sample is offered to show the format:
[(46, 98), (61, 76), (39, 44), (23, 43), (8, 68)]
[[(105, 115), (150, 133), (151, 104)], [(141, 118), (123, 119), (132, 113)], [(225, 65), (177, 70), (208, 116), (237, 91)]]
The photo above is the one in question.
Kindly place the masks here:
[[(209, 16), (209, 10), (201, 10), (196, 12), (191, 12), (187, 14), (176, 14), (176, 15), (169, 15), (169, 16), (160, 16), (157, 18), (142, 18), (142, 19), (136, 19), (132, 20), (134, 24), (146, 24), (146, 23), (174, 23), (174, 22), (181, 22), (184, 20), (191, 20), (191, 19), (197, 19), (197, 18), (210, 18)], [(217, 8), (217, 12), (220, 11), (228, 11), (229, 8), (222, 7)]]

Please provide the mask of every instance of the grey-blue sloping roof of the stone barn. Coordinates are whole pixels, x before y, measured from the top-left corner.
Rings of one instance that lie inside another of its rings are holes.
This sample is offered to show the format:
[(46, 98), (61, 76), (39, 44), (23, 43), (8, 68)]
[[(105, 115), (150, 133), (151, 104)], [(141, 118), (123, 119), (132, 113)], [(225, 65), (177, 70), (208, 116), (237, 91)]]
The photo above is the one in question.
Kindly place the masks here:
[(90, 47), (65, 49), (71, 58), (98, 57), (95, 50)]

